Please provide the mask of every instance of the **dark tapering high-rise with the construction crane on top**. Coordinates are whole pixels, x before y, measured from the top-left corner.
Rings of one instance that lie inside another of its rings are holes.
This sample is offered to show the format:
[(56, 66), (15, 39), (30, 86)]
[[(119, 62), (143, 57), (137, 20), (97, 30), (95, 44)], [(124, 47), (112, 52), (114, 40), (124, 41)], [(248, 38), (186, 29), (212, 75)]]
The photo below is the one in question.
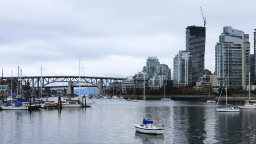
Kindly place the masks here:
[(192, 83), (195, 84), (205, 69), (205, 27), (186, 28), (186, 50), (192, 56)]

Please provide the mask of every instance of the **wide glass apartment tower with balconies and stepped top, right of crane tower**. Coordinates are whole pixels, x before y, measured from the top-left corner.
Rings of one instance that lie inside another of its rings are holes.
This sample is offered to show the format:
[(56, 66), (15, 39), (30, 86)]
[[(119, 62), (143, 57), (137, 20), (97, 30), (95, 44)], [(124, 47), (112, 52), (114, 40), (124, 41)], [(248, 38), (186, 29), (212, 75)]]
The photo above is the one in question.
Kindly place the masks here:
[(246, 88), (250, 72), (249, 35), (232, 27), (224, 27), (215, 46), (217, 85), (221, 87), (228, 77), (231, 88)]

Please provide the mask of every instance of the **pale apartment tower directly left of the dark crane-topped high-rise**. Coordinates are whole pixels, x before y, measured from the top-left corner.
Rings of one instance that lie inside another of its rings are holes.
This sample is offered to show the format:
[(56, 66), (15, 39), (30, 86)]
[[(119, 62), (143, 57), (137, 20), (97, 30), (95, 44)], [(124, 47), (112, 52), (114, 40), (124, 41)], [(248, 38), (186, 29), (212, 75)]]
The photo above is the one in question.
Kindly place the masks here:
[(192, 56), (188, 51), (179, 51), (173, 58), (173, 86), (192, 84)]

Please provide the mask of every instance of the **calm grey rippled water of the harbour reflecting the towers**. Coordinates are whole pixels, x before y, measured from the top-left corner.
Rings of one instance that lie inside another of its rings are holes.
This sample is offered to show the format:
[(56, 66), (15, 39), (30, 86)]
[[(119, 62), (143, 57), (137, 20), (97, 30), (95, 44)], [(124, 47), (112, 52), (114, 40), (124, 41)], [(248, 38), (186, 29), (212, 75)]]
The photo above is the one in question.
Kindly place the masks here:
[(96, 99), (91, 108), (0, 111), (1, 144), (255, 143), (256, 110), (216, 112), (202, 101), (145, 101), (146, 118), (163, 135), (136, 133), (143, 101)]

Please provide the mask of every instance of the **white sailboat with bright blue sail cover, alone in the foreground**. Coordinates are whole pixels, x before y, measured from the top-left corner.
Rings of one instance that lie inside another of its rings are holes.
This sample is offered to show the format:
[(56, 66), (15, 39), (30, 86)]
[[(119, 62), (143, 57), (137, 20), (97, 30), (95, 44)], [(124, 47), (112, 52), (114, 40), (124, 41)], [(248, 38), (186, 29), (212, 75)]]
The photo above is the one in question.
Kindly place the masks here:
[[(145, 74), (144, 74), (144, 85), (143, 85), (143, 115), (145, 115)], [(145, 120), (141, 124), (135, 124), (136, 131), (147, 134), (163, 134), (164, 128), (158, 128), (153, 125), (153, 121)]]

